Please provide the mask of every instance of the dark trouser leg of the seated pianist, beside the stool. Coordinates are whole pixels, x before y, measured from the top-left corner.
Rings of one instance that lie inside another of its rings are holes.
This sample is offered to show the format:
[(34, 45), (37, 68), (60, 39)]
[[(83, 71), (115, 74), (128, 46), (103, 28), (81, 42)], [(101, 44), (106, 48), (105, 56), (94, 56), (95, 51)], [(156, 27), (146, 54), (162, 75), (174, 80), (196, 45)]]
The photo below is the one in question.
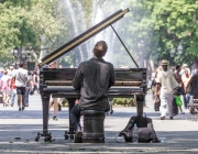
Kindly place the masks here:
[(70, 110), (70, 121), (74, 127), (80, 122), (80, 110), (78, 103)]

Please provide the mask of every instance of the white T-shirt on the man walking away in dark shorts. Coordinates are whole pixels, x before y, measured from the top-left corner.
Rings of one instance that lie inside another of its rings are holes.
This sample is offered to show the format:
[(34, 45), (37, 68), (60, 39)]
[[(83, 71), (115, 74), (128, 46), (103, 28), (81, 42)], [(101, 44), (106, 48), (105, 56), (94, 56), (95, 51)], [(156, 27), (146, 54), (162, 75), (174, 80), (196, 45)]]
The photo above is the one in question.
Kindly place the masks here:
[(26, 87), (28, 70), (19, 68), (13, 77), (15, 77), (15, 87)]

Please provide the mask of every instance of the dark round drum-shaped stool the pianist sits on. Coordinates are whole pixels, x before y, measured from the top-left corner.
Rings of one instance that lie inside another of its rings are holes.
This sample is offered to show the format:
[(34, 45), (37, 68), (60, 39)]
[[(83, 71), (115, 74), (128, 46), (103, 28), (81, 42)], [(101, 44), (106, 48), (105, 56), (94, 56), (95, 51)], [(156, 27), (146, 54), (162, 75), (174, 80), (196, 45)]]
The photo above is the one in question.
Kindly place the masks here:
[(84, 110), (82, 143), (105, 143), (103, 120), (106, 113), (97, 110)]

